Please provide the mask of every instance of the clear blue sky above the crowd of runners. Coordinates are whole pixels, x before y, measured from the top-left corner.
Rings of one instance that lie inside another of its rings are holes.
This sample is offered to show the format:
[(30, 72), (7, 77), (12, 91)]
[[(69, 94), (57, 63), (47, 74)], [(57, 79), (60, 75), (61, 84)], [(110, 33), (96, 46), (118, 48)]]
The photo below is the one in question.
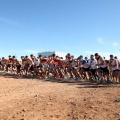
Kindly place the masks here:
[(0, 0), (0, 57), (59, 51), (120, 58), (120, 0)]

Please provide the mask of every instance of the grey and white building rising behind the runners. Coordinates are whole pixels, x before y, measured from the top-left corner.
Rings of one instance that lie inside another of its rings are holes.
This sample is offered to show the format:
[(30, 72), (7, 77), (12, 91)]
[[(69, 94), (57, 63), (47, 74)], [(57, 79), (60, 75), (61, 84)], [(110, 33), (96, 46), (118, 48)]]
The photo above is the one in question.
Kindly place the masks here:
[(56, 56), (59, 56), (59, 57), (63, 57), (63, 59), (65, 59), (65, 56), (67, 55), (67, 53), (63, 53), (63, 52), (47, 51), (47, 52), (39, 52), (38, 56), (42, 55), (43, 57), (48, 57), (52, 54), (55, 54)]

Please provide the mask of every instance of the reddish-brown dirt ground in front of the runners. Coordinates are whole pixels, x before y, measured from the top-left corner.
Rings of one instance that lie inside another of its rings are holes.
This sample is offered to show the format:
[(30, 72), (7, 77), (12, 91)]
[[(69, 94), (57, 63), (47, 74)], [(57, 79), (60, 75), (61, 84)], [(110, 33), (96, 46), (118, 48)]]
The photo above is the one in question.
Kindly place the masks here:
[(120, 84), (0, 76), (0, 120), (120, 120)]

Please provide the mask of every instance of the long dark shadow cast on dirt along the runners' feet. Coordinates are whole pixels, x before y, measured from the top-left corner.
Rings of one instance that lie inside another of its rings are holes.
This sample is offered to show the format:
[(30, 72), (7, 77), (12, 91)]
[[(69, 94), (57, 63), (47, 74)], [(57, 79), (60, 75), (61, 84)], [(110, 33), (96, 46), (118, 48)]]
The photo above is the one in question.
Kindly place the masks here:
[(77, 88), (110, 88), (110, 87), (120, 87), (120, 83), (110, 83), (110, 84), (98, 84), (95, 82), (90, 82), (88, 80), (79, 80), (76, 81), (74, 79), (39, 79), (33, 76), (17, 76), (15, 74), (3, 73), (0, 72), (0, 76), (5, 78), (14, 78), (14, 79), (32, 79), (32, 80), (39, 80), (42, 82), (56, 82), (56, 83), (65, 83), (68, 85), (77, 85)]

